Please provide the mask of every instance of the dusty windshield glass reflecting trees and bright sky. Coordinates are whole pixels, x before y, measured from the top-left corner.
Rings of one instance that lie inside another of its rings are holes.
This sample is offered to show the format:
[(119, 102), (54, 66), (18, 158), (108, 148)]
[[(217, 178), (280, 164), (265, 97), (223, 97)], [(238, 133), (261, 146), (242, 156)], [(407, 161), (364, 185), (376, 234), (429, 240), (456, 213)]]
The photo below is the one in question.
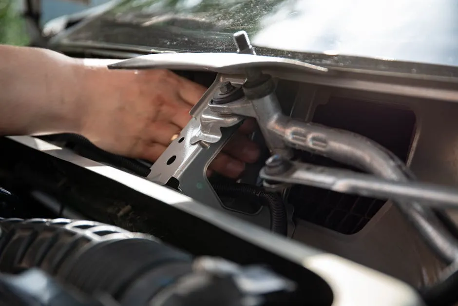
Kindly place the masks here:
[(457, 16), (455, 0), (128, 0), (72, 39), (234, 52), (245, 30), (275, 50), (458, 65)]

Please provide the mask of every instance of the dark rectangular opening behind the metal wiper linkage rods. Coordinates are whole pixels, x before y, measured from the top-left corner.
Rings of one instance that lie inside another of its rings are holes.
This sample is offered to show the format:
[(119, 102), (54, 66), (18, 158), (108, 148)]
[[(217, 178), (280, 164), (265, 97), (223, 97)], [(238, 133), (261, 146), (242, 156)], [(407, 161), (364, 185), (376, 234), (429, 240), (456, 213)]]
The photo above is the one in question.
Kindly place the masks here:
[[(415, 132), (415, 114), (397, 105), (333, 97), (317, 107), (312, 122), (366, 136), (406, 161)], [(298, 151), (300, 160), (323, 166), (351, 169), (327, 158)], [(357, 233), (382, 208), (385, 200), (347, 195), (296, 185), (287, 195), (294, 217), (339, 233)]]

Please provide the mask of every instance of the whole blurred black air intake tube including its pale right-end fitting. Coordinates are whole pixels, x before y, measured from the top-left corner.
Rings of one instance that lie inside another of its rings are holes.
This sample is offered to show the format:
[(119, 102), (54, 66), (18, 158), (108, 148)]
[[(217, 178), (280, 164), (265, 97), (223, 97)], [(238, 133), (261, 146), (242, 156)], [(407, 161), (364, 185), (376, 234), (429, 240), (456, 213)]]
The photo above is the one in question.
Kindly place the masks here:
[[(150, 235), (97, 222), (4, 219), (0, 229), (1, 273), (38, 268), (83, 294), (109, 295), (120, 306), (276, 305), (268, 296), (295, 287), (264, 267), (193, 258)], [(265, 286), (272, 280), (276, 287)]]

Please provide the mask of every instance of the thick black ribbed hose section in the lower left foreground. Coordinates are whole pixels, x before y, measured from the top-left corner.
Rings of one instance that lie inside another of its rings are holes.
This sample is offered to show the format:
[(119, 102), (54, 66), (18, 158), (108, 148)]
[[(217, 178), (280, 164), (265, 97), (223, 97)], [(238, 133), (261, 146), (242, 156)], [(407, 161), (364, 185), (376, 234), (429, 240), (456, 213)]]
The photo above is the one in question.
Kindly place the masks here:
[(37, 267), (85, 294), (107, 293), (121, 306), (148, 305), (191, 272), (189, 254), (113, 225), (4, 219), (0, 229), (0, 272)]

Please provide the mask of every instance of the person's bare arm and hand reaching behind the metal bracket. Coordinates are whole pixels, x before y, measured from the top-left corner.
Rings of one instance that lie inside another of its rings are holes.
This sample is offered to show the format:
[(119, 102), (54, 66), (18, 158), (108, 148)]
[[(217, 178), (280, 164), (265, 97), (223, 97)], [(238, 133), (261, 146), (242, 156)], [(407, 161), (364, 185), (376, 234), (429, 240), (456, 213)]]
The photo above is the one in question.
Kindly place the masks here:
[[(108, 70), (50, 50), (0, 45), (0, 135), (78, 133), (107, 151), (154, 161), (205, 90), (168, 70)], [(236, 177), (257, 159), (244, 135), (251, 128), (241, 127), (213, 170)]]

